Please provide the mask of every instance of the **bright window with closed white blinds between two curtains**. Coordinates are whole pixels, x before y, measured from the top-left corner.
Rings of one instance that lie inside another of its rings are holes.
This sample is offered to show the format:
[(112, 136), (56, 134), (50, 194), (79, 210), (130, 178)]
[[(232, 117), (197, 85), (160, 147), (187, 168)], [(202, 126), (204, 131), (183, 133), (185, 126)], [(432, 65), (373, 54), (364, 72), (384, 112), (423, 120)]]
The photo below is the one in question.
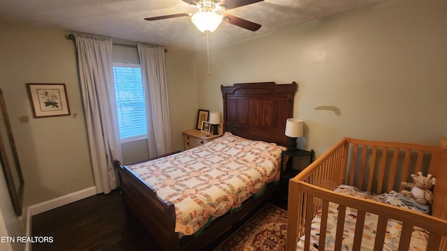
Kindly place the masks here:
[(122, 142), (147, 137), (145, 91), (140, 65), (113, 63), (115, 95)]

